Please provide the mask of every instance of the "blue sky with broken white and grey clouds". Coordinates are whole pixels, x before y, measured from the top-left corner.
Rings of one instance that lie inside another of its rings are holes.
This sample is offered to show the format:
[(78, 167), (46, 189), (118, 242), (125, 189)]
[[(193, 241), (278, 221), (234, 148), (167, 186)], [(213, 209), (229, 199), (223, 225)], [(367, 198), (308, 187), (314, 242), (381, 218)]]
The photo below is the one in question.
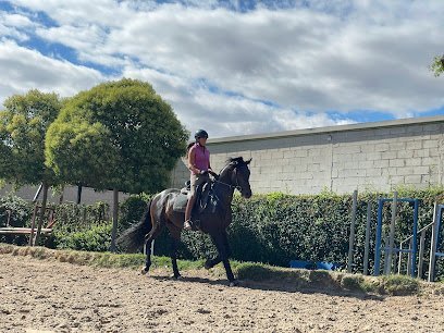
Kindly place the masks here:
[(210, 138), (443, 115), (443, 17), (442, 0), (0, 0), (0, 104), (128, 77)]

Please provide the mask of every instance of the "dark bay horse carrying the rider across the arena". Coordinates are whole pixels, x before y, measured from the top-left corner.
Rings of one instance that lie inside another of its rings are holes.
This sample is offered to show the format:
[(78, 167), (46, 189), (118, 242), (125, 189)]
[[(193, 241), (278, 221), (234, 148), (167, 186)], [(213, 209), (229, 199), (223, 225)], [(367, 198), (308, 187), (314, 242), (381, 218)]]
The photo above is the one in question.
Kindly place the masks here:
[[(198, 229), (211, 237), (212, 243), (218, 249), (214, 258), (205, 262), (206, 269), (211, 269), (222, 262), (229, 285), (237, 285), (229, 257), (231, 256), (227, 240), (226, 229), (232, 223), (232, 208), (234, 190), (240, 192), (244, 198), (250, 198), (252, 193), (249, 184), (250, 171), (248, 164), (251, 159), (244, 161), (242, 157), (230, 158), (219, 175), (214, 175), (212, 184), (212, 194), (217, 198), (217, 205), (211, 209), (205, 209), (199, 214)], [(174, 202), (178, 200), (181, 190), (177, 188), (168, 188), (155, 195), (147, 203), (141, 220), (124, 232), (118, 239), (119, 245), (126, 249), (137, 250), (144, 244), (146, 255), (145, 267), (141, 273), (146, 274), (151, 266), (150, 247), (152, 240), (161, 233), (165, 226), (172, 238), (171, 261), (173, 267), (173, 278), (181, 279), (177, 268), (177, 246), (181, 242), (181, 233), (184, 226), (184, 212), (173, 209)], [(183, 195), (182, 195), (183, 196)], [(198, 201), (198, 200), (196, 200)], [(146, 234), (146, 235), (145, 235)], [(145, 237), (144, 237), (145, 235)]]

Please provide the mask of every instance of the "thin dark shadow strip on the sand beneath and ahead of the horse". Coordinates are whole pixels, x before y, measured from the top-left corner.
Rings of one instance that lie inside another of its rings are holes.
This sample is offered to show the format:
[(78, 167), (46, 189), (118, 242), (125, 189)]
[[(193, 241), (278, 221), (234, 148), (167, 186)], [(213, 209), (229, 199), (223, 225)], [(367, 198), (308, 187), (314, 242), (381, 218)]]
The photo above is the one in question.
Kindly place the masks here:
[[(199, 278), (199, 276), (182, 276), (181, 279), (175, 279), (173, 276), (161, 276), (155, 275), (150, 276), (150, 279), (155, 279), (157, 281), (175, 281), (177, 283), (181, 282), (190, 282), (190, 283), (199, 283), (205, 285), (211, 286), (220, 286), (229, 288), (226, 279), (208, 279), (208, 278)], [(252, 280), (238, 280), (237, 285), (232, 288), (246, 288), (246, 289), (254, 289), (254, 291), (262, 291), (262, 292), (281, 292), (281, 293), (288, 293), (288, 294), (323, 294), (329, 296), (340, 296), (346, 298), (357, 298), (357, 299), (372, 299), (372, 300), (384, 300), (385, 297), (382, 295), (366, 293), (361, 291), (349, 291), (341, 287), (324, 287), (316, 286), (316, 287), (307, 287), (301, 286), (298, 281), (252, 281)]]

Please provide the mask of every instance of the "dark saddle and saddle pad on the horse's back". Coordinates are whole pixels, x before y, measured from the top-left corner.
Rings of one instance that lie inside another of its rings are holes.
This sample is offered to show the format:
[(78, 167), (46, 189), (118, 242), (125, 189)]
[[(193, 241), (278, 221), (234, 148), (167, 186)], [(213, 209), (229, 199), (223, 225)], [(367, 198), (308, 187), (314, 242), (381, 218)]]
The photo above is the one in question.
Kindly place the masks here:
[[(209, 210), (215, 212), (215, 208), (219, 202), (219, 198), (213, 192), (213, 182), (207, 182), (196, 187), (196, 201), (192, 210), (192, 220), (199, 220), (199, 215)], [(189, 181), (186, 182), (186, 187), (181, 189), (181, 193), (174, 200), (173, 210), (176, 212), (185, 212), (186, 202), (188, 201), (188, 193), (190, 190)]]

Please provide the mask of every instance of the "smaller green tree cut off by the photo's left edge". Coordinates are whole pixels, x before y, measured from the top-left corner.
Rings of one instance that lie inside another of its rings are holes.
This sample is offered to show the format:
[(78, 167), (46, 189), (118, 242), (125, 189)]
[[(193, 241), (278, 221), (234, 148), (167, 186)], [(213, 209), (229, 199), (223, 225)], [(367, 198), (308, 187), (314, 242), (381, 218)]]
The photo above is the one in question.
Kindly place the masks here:
[(21, 185), (42, 184), (44, 198), (35, 242), (44, 222), (48, 188), (55, 184), (54, 173), (45, 164), (45, 137), (55, 120), (62, 101), (55, 94), (29, 90), (4, 101), (0, 111), (0, 178)]

